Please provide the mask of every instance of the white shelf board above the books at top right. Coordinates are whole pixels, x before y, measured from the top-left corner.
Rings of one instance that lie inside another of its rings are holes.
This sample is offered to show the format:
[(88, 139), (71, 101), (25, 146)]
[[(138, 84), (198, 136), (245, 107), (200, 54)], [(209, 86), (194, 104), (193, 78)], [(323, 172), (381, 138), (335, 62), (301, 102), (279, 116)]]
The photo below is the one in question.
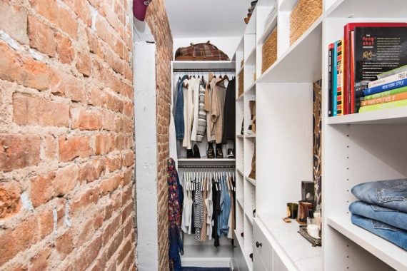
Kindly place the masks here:
[(406, 18), (406, 13), (406, 0), (336, 0), (326, 11), (326, 16), (342, 18)]

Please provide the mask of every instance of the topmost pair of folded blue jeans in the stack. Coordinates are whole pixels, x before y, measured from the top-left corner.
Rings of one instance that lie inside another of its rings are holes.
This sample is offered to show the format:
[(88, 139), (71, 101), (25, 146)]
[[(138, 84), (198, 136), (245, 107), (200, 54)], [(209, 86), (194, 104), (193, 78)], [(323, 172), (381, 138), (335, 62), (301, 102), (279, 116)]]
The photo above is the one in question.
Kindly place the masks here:
[(361, 183), (352, 193), (366, 203), (407, 213), (407, 179)]

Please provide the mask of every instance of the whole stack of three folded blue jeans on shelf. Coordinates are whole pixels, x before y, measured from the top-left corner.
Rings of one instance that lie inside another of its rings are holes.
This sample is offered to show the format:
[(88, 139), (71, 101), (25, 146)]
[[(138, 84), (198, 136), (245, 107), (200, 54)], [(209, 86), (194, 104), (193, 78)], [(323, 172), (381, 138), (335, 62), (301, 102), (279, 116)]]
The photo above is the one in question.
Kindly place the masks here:
[(407, 250), (407, 179), (361, 183), (352, 193), (352, 223)]

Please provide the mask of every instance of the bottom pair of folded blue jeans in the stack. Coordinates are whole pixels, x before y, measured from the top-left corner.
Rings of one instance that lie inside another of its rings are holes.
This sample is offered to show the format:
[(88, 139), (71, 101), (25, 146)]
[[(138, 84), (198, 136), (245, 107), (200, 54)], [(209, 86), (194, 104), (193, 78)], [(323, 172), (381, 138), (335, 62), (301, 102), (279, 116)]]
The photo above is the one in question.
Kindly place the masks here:
[(400, 230), (386, 223), (381, 223), (371, 218), (363, 218), (359, 215), (352, 215), (351, 219), (353, 224), (363, 227), (363, 229), (392, 242), (394, 245), (403, 248), (403, 250), (407, 250), (406, 230)]

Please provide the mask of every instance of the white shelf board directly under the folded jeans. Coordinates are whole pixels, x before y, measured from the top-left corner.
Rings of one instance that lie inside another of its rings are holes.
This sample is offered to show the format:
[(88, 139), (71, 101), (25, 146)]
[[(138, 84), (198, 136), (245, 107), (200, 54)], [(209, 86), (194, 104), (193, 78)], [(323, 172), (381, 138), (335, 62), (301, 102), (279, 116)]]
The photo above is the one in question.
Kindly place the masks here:
[(327, 218), (327, 223), (363, 249), (371, 252), (396, 270), (407, 270), (407, 252), (361, 227), (353, 225), (351, 218)]

